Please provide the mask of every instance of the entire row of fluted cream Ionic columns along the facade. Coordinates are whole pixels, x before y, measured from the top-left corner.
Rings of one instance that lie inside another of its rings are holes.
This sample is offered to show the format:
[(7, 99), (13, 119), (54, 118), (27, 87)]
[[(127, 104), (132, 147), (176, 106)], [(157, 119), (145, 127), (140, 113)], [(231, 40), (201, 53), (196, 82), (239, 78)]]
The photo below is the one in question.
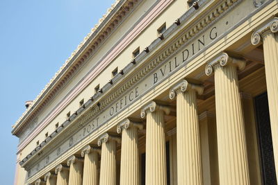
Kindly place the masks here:
[[(273, 22), (275, 25), (272, 25)], [(254, 33), (259, 38), (263, 35), (265, 54), (265, 73), (270, 104), (270, 120), (275, 152), (275, 164), (278, 156), (278, 21), (272, 21), (267, 28)], [(275, 27), (276, 26), (276, 27)], [(273, 28), (275, 27), (275, 28)], [(254, 39), (252, 37), (252, 39)], [(252, 40), (253, 44), (254, 43)], [(270, 55), (268, 55), (270, 54)], [(218, 140), (219, 182), (225, 185), (250, 184), (247, 165), (247, 146), (240, 104), (237, 69), (245, 67), (244, 60), (231, 58), (222, 53), (206, 65), (206, 75), (214, 72), (215, 108)], [(202, 162), (197, 117), (197, 94), (202, 94), (203, 87), (181, 80), (170, 90), (170, 98), (177, 96), (177, 183), (203, 184)], [(170, 108), (158, 105), (154, 101), (141, 110), (141, 117), (146, 117), (146, 182), (147, 185), (166, 185), (166, 152), (164, 115), (170, 114)], [(121, 185), (139, 184), (138, 130), (142, 124), (126, 119), (117, 125), (118, 136), (103, 134), (98, 140), (99, 148), (87, 146), (82, 150), (82, 157), (72, 157), (67, 165), (59, 165), (56, 175), (45, 176), (47, 184), (116, 184), (116, 146), (122, 142)], [(98, 155), (101, 153), (100, 177), (98, 177)], [(84, 160), (84, 162), (83, 162)], [(83, 166), (84, 164), (84, 166)], [(82, 172), (83, 171), (83, 172)], [(278, 171), (278, 170), (277, 170)], [(82, 177), (83, 174), (83, 177)], [(277, 175), (278, 177), (278, 175)], [(83, 179), (83, 182), (82, 182)], [(56, 183), (57, 182), (57, 183)]]

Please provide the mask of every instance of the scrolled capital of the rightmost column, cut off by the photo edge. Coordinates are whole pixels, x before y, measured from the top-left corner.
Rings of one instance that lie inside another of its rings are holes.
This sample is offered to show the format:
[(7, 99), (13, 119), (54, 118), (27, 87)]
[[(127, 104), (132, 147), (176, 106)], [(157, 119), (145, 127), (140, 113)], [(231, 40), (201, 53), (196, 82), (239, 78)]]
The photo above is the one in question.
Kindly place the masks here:
[(252, 33), (251, 43), (255, 46), (261, 43), (261, 36), (263, 33), (271, 31), (272, 33), (277, 33), (278, 31), (278, 17), (274, 17), (270, 19), (266, 24), (261, 26), (261, 28), (257, 29)]

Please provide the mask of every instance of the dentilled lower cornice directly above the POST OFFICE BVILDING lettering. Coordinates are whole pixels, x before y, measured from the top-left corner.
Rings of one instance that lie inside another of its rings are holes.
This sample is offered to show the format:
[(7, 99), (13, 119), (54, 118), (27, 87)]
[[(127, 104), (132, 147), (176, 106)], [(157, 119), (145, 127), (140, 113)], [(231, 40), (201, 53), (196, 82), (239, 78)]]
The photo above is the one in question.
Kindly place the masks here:
[[(158, 65), (161, 64), (161, 62), (163, 62), (167, 58), (170, 58), (175, 52), (177, 52), (178, 49), (181, 48), (181, 46), (194, 39), (198, 35), (198, 33), (202, 33), (202, 29), (206, 28), (206, 26), (209, 26), (210, 23), (212, 23), (215, 19), (218, 19), (218, 17), (221, 17), (221, 15), (224, 15), (224, 13), (229, 8), (234, 6), (237, 2), (240, 2), (240, 0), (228, 0), (224, 2), (218, 1), (218, 3), (215, 6), (213, 6), (213, 8), (201, 12), (202, 15), (199, 17), (199, 21), (195, 21), (193, 22), (193, 24), (186, 24), (190, 19), (190, 15), (195, 15), (198, 13), (196, 12), (195, 8), (190, 8), (183, 16), (179, 18), (179, 21), (175, 21), (174, 24), (172, 24), (172, 26), (165, 30), (165, 32), (163, 33), (163, 37), (158, 37), (154, 40), (154, 42), (152, 42), (152, 44), (148, 46), (149, 52), (143, 51), (142, 53), (140, 53), (135, 58), (135, 60), (131, 61), (131, 63), (123, 69), (122, 74), (118, 73), (117, 76), (115, 76), (115, 78), (112, 79), (112, 84), (108, 82), (102, 89), (102, 93), (95, 94), (94, 96), (92, 96), (92, 98), (88, 100), (87, 103), (85, 103), (83, 108), (77, 110), (76, 114), (73, 114), (69, 118), (69, 120), (65, 121), (65, 123), (63, 123), (62, 125), (63, 127), (60, 129), (57, 136), (54, 136), (54, 138), (51, 139), (47, 143), (47, 145), (43, 146), (43, 148), (40, 148), (40, 150), (44, 149), (44, 155), (47, 155), (49, 151), (57, 148), (56, 143), (62, 143), (72, 133), (76, 132), (76, 130), (79, 130), (83, 125), (85, 125), (85, 123), (88, 123), (88, 121), (92, 120), (92, 118), (97, 116), (97, 114), (99, 114), (104, 108), (106, 108), (113, 101), (115, 101), (120, 95), (124, 94), (126, 89), (129, 89), (140, 79), (144, 78), (147, 73), (152, 71), (152, 69), (154, 69), (155, 67), (158, 67)], [(198, 10), (202, 10), (202, 8), (204, 8), (204, 6), (207, 5), (207, 3), (208, 1), (205, 0), (199, 1)], [(180, 24), (177, 24), (176, 22), (179, 22)], [(174, 39), (174, 41), (169, 44), (169, 47), (167, 47), (167, 49), (164, 49), (162, 52), (154, 55), (155, 58), (149, 59), (148, 55), (150, 53), (156, 52), (158, 46), (163, 44), (164, 40), (171, 38), (172, 33), (174, 33), (177, 29), (181, 28), (181, 25), (184, 26), (184, 30), (181, 33), (179, 33), (179, 35), (177, 36), (178, 39)], [(146, 58), (148, 60), (146, 60)], [(138, 66), (136, 67), (136, 65)], [(128, 74), (131, 74), (130, 78), (126, 77)], [(124, 81), (124, 79), (129, 80)], [(112, 88), (113, 91), (111, 90)], [(71, 125), (70, 127), (68, 127), (69, 124)], [(24, 158), (24, 160), (22, 160), (21, 165), (25, 168), (26, 165), (29, 164), (29, 161), (31, 159), (31, 161), (33, 161), (34, 163), (36, 160), (38, 160), (38, 158), (35, 159), (35, 156), (36, 152), (34, 155), (31, 155), (31, 157)]]

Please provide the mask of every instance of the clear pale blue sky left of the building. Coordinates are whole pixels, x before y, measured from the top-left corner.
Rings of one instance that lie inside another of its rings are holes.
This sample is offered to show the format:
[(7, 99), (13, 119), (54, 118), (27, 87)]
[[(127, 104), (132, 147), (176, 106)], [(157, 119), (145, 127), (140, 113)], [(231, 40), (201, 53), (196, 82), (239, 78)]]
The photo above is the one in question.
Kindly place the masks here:
[(11, 126), (114, 0), (0, 0), (0, 179), (13, 184)]

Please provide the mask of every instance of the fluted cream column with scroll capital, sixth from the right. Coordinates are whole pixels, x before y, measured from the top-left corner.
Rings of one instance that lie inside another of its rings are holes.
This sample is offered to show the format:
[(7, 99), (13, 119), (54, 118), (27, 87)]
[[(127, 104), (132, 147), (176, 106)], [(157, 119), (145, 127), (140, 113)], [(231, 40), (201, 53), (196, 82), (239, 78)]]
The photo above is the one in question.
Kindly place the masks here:
[(117, 142), (120, 143), (120, 138), (107, 133), (97, 141), (98, 146), (101, 146), (99, 185), (116, 185)]

